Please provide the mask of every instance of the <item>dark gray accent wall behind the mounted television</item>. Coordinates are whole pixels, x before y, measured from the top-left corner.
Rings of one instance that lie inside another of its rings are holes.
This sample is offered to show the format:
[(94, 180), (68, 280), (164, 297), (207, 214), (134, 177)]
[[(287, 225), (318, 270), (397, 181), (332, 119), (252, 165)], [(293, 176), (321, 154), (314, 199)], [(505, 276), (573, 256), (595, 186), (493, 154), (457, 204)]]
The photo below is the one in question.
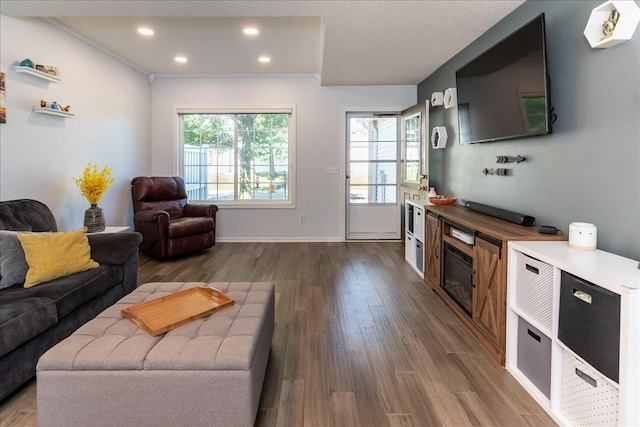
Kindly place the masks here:
[[(598, 249), (640, 259), (640, 29), (617, 46), (592, 49), (583, 35), (604, 1), (528, 0), (418, 85), (418, 101), (455, 87), (455, 71), (541, 13), (545, 14), (550, 135), (458, 143), (457, 109), (431, 108), (428, 135), (446, 126), (446, 149), (430, 151), (439, 194), (532, 215), (565, 234), (571, 222), (598, 227)], [(526, 161), (498, 164), (496, 156)], [(508, 176), (485, 176), (506, 167)], [(460, 202), (459, 202), (460, 203)]]

